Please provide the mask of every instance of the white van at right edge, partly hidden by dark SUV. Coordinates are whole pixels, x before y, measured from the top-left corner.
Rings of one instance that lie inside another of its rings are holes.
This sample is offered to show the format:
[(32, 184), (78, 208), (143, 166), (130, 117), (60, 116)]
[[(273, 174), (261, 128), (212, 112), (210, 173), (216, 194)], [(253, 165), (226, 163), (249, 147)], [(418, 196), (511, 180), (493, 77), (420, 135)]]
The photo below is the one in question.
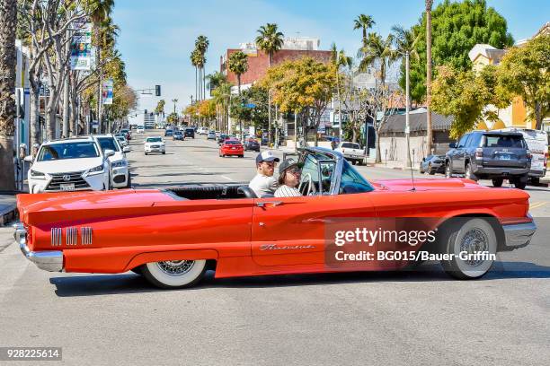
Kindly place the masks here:
[(531, 152), (531, 170), (529, 180), (537, 185), (541, 178), (546, 175), (546, 162), (548, 161), (548, 135), (546, 131), (527, 128), (502, 128), (499, 131), (519, 132), (523, 135)]

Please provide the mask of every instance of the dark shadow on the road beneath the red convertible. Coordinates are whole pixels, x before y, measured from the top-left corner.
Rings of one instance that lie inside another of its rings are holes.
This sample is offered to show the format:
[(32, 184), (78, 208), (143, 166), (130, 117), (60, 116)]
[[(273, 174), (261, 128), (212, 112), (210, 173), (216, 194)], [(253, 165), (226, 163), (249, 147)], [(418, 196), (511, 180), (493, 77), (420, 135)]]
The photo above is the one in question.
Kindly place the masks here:
[[(475, 281), (492, 281), (520, 278), (550, 278), (550, 266), (538, 266), (528, 262), (499, 262), (495, 269)], [(443, 272), (439, 264), (427, 264), (415, 270), (386, 272), (346, 272), (333, 274), (280, 274), (235, 278), (214, 278), (208, 271), (197, 286), (185, 290), (199, 291), (205, 288), (269, 288), (318, 286), (346, 283), (419, 283), (456, 282)], [(89, 274), (51, 277), (49, 282), (56, 286), (59, 297), (96, 296), (105, 294), (127, 294), (137, 292), (164, 292), (137, 274)]]

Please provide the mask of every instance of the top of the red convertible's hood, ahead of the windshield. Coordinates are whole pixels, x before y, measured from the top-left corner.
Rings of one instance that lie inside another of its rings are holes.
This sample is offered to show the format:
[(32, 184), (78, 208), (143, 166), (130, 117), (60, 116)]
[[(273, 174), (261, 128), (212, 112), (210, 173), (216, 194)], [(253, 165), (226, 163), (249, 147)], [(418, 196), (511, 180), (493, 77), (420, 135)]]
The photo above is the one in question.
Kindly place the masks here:
[(371, 182), (376, 189), (391, 191), (408, 191), (413, 187), (418, 191), (448, 190), (457, 188), (489, 189), (470, 179), (382, 179)]

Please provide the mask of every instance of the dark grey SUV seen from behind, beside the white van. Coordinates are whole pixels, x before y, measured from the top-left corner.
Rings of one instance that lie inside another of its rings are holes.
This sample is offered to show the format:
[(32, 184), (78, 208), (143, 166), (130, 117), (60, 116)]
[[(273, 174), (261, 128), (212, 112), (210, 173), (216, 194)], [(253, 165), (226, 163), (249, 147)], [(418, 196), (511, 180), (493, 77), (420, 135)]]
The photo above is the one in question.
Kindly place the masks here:
[(531, 154), (523, 135), (511, 132), (474, 131), (449, 144), (445, 175), (464, 174), (467, 179), (492, 179), (501, 187), (504, 179), (523, 189), (528, 182)]

